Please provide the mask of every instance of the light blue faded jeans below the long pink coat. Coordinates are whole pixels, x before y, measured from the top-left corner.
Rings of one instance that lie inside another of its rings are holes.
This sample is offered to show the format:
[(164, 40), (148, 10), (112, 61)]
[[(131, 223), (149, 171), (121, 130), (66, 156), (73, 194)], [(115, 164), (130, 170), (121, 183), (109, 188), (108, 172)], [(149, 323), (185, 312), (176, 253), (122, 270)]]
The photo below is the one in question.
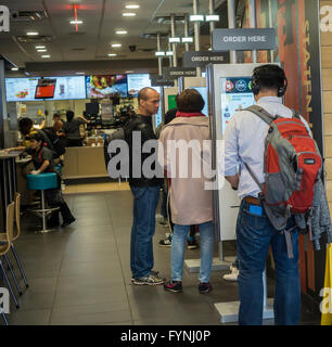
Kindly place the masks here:
[[(214, 257), (214, 228), (210, 221), (199, 224), (201, 237), (200, 282), (209, 282), (209, 273)], [(174, 224), (171, 239), (171, 280), (182, 281), (184, 247), (190, 226)]]

